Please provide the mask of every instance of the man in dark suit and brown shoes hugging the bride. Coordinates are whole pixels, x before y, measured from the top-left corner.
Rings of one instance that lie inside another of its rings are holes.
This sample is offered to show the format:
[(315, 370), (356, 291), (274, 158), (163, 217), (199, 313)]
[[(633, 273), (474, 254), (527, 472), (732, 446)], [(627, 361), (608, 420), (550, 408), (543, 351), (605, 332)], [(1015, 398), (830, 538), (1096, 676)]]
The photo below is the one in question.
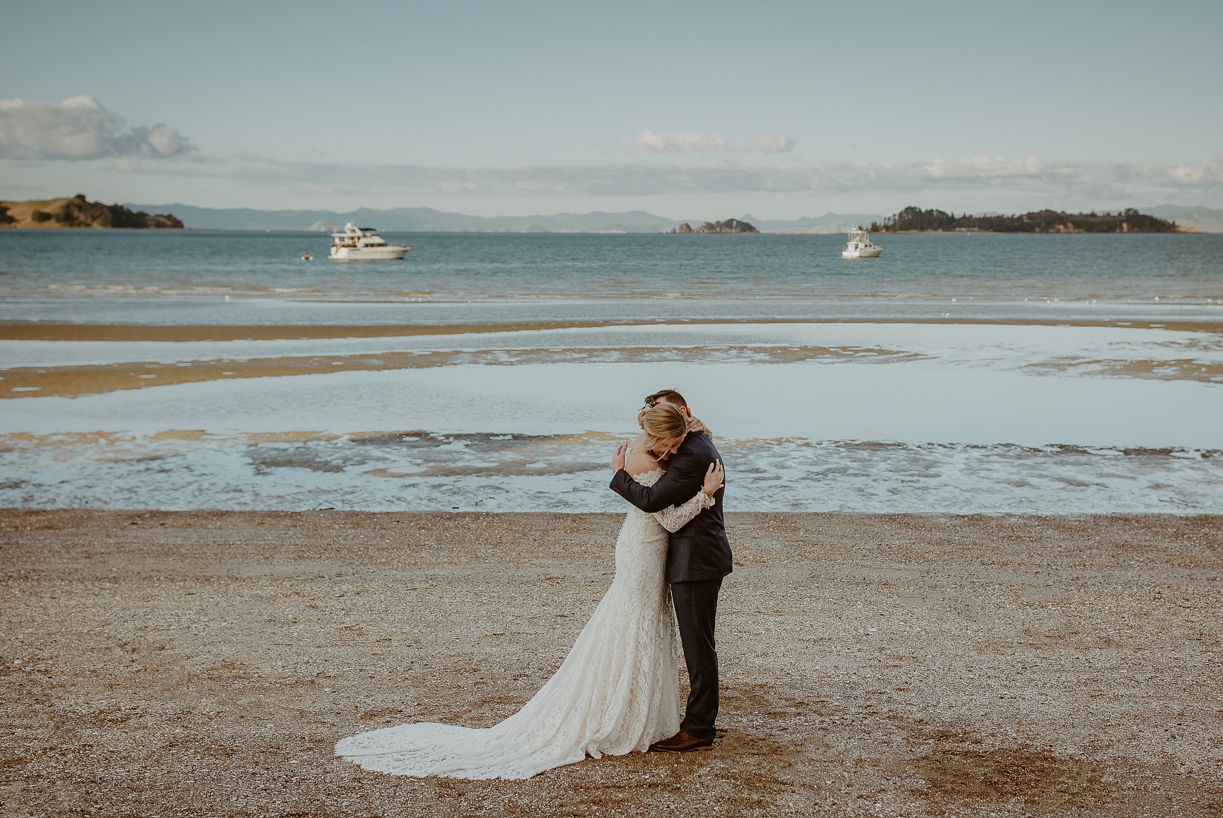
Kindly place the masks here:
[[(646, 399), (647, 406), (654, 403), (678, 406), (689, 418), (689, 434), (667, 461), (662, 478), (653, 485), (636, 482), (624, 471), (624, 455), (620, 452), (612, 463), (616, 470), (612, 490), (646, 514), (690, 500), (701, 490), (709, 465), (722, 460), (704, 424), (692, 417), (682, 395), (674, 389), (664, 389)], [(724, 494), (725, 487), (718, 489), (713, 495), (713, 507), (670, 536), (667, 581), (671, 583), (691, 690), (680, 731), (653, 745), (653, 751), (686, 753), (713, 748), (713, 723), (718, 718), (718, 652), (713, 642), (713, 625), (718, 615), (722, 578), (734, 570), (722, 520)]]

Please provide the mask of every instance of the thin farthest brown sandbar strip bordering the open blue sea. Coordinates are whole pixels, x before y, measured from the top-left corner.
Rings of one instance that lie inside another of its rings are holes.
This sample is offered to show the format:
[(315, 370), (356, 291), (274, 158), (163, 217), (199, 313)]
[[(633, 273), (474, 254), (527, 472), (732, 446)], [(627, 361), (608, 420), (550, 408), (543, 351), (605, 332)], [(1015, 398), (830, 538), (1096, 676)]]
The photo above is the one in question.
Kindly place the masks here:
[[(1073, 301), (1073, 300), (1068, 300)], [(1223, 311), (1221, 311), (1223, 312)], [(1125, 326), (1223, 333), (1223, 314), (1210, 320), (1086, 320), (1074, 318), (693, 318), (516, 322), (486, 324), (86, 324), (42, 320), (0, 322), (4, 341), (279, 341), (340, 337), (396, 337), (411, 335), (461, 335), (467, 333), (514, 333), (545, 329), (599, 326), (667, 326), (700, 324), (988, 324), (999, 326)]]

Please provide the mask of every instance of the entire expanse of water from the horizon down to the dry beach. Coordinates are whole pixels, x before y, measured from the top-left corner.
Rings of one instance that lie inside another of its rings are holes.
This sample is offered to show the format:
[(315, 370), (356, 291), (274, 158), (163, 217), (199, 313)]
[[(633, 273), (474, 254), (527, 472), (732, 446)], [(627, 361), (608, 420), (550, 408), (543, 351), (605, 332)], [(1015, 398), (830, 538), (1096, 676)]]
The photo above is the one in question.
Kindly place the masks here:
[(1223, 236), (388, 238), (0, 231), (4, 323), (302, 326), (0, 340), (0, 505), (615, 511), (670, 386), (730, 510), (1223, 507)]

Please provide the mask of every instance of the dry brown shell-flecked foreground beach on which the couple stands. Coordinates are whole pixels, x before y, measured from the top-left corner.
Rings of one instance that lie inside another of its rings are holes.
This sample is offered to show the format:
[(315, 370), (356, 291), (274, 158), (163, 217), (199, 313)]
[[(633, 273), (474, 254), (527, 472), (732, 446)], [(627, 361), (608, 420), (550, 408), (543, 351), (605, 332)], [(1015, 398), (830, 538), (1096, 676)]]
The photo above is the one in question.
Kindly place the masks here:
[(1214, 816), (1223, 517), (733, 514), (714, 752), (331, 754), (558, 666), (619, 515), (0, 512), (5, 816)]

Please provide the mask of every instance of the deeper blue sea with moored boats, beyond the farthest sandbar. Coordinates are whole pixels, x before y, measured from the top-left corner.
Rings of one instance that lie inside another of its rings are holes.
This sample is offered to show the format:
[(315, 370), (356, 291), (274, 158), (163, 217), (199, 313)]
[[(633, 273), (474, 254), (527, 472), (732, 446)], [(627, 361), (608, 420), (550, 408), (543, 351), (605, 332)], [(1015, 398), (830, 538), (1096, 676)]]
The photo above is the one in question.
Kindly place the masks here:
[[(1210, 320), (1223, 314), (1213, 303), (1223, 300), (1223, 235), (879, 236), (883, 256), (861, 260), (841, 259), (844, 241), (835, 235), (385, 237), (413, 249), (402, 262), (340, 264), (325, 258), (330, 240), (323, 234), (0, 231), (0, 320), (446, 324), (944, 313)], [(300, 260), (306, 251), (317, 260)]]

